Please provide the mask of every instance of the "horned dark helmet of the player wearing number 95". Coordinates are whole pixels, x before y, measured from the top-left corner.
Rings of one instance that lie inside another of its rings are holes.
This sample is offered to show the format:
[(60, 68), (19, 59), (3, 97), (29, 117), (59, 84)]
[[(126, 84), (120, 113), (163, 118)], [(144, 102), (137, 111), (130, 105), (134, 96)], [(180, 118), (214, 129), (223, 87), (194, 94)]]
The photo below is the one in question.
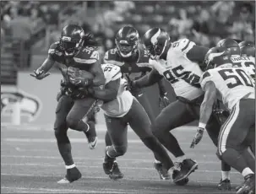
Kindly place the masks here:
[(159, 58), (166, 50), (168, 41), (171, 40), (166, 30), (153, 28), (144, 34), (142, 38), (144, 49), (150, 52), (152, 58)]

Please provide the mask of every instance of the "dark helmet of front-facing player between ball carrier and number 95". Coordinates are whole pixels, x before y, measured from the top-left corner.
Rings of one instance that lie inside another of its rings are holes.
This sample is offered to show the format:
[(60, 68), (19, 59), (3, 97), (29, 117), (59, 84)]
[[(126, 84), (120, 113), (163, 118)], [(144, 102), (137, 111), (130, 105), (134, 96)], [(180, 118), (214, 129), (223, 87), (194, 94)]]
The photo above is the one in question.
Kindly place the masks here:
[(139, 32), (133, 26), (124, 26), (116, 35), (117, 52), (121, 57), (131, 57), (138, 49)]

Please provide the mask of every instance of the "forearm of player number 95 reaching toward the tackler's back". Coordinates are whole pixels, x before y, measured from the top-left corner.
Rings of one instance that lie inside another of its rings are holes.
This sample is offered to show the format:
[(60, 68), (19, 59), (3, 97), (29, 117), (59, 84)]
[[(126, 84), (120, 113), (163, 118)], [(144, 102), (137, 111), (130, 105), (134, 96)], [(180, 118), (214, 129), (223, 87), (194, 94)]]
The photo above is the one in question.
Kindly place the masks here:
[(155, 69), (152, 69), (150, 73), (144, 75), (144, 77), (133, 81), (133, 87), (144, 88), (159, 82), (163, 78)]

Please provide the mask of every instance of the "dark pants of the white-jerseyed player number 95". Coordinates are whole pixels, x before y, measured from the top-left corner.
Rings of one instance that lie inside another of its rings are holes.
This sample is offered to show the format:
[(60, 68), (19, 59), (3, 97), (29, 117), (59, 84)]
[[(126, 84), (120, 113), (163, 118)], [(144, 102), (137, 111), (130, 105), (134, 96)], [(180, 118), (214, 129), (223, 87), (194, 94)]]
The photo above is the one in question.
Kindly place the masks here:
[[(181, 127), (191, 121), (199, 119), (200, 105), (190, 104), (176, 100), (164, 108), (160, 115), (155, 119), (155, 125), (152, 125), (152, 132), (159, 141), (175, 156), (184, 155), (176, 137), (170, 131), (176, 127)], [(215, 116), (210, 117), (206, 130), (210, 135), (213, 143), (217, 146), (218, 135), (221, 125)]]

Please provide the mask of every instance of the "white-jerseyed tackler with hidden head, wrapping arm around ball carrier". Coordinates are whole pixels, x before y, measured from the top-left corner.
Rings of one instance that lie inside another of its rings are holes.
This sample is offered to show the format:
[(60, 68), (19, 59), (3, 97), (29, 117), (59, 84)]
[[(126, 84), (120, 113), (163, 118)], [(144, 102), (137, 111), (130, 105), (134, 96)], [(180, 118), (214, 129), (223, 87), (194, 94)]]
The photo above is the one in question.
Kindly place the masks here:
[[(105, 74), (104, 89), (93, 89), (91, 94), (102, 100), (106, 127), (112, 139), (112, 146), (106, 147), (103, 169), (111, 179), (121, 179), (123, 174), (118, 168), (116, 158), (126, 153), (128, 146), (128, 125), (139, 136), (147, 148), (158, 155), (166, 170), (173, 170), (172, 159), (165, 148), (150, 131), (150, 119), (142, 105), (126, 90), (127, 81), (122, 78), (121, 68), (112, 64), (101, 65)], [(177, 172), (178, 173), (178, 172)]]

